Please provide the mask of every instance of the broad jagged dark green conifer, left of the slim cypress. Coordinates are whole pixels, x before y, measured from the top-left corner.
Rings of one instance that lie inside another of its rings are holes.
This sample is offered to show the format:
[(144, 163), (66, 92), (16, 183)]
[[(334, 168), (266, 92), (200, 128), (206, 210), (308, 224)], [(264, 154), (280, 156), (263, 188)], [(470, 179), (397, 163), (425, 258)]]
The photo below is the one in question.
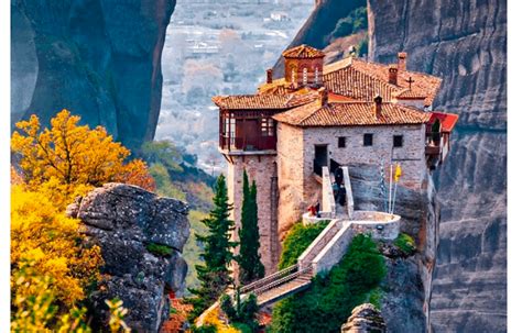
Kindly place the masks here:
[(225, 177), (217, 179), (214, 195), (214, 209), (202, 222), (207, 226), (206, 235), (196, 234), (197, 241), (204, 244), (202, 254), (204, 265), (196, 265), (197, 278), (202, 282), (197, 289), (189, 289), (194, 295), (187, 299), (194, 310), (189, 320), (194, 320), (205, 309), (218, 300), (219, 296), (232, 282), (229, 266), (233, 259), (232, 248), (237, 243), (230, 241), (233, 221), (229, 220), (232, 206), (228, 203)]

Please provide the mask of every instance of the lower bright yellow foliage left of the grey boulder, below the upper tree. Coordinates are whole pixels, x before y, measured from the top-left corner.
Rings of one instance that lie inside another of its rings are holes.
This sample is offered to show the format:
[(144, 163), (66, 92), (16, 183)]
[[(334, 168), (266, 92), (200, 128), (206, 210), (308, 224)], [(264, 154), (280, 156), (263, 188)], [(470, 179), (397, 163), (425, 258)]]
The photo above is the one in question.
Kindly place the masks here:
[[(34, 262), (36, 273), (52, 278), (57, 300), (72, 307), (85, 297), (84, 288), (99, 278), (102, 259), (98, 246), (78, 245), (79, 221), (58, 211), (53, 195), (44, 188), (12, 187), (11, 266), (15, 273), (23, 260)], [(17, 292), (14, 281), (11, 287)]]

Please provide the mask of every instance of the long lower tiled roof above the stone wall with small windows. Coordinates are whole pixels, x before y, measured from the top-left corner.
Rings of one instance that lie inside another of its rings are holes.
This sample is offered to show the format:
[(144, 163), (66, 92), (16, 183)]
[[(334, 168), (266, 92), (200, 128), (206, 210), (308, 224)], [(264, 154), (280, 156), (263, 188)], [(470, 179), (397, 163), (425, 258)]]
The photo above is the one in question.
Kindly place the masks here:
[(373, 102), (342, 102), (319, 106), (317, 101), (273, 115), (279, 122), (295, 126), (351, 126), (423, 124), (431, 113), (396, 103), (383, 102), (376, 118)]

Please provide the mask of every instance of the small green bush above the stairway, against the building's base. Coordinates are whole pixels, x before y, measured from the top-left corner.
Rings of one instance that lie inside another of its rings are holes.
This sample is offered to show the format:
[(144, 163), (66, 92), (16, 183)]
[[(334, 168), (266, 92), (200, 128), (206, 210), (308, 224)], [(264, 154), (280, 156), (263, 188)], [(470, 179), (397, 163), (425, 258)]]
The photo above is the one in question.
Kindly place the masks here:
[(295, 223), (283, 242), (279, 269), (297, 264), (297, 258), (314, 242), (326, 225), (328, 225), (328, 221), (320, 221), (309, 225), (304, 225), (301, 222)]

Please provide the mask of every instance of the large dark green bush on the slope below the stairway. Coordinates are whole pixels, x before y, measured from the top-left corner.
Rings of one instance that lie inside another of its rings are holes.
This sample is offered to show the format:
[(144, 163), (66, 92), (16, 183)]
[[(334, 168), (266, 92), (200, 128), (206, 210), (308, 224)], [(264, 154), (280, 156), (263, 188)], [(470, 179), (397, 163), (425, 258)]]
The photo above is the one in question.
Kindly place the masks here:
[(268, 332), (338, 332), (351, 310), (385, 276), (384, 258), (369, 235), (354, 237), (348, 253), (308, 290), (279, 302)]

